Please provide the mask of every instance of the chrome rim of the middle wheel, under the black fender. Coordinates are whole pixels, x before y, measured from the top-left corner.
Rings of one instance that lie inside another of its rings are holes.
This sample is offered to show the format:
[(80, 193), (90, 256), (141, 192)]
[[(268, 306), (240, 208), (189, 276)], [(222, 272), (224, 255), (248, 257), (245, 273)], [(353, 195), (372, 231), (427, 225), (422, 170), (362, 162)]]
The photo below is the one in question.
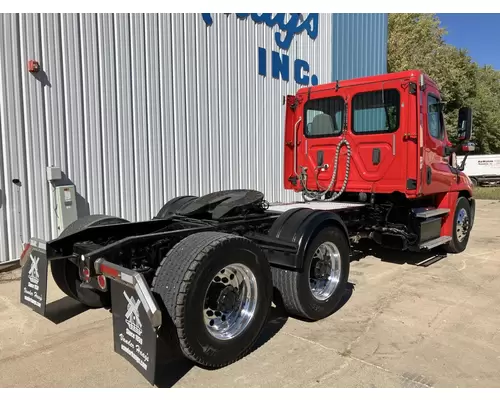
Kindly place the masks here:
[(328, 300), (340, 281), (340, 251), (332, 242), (324, 242), (316, 249), (311, 260), (309, 288), (316, 300)]

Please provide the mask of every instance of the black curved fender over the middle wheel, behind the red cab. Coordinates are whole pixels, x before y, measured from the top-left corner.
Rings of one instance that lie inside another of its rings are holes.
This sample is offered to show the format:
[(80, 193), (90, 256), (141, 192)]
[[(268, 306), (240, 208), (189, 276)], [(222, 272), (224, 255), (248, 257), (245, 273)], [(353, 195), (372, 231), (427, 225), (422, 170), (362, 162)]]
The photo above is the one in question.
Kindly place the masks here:
[(327, 226), (338, 226), (349, 242), (349, 233), (342, 218), (331, 211), (295, 208), (285, 211), (274, 222), (269, 236), (295, 243), (295, 269), (302, 271), (305, 253), (309, 243)]

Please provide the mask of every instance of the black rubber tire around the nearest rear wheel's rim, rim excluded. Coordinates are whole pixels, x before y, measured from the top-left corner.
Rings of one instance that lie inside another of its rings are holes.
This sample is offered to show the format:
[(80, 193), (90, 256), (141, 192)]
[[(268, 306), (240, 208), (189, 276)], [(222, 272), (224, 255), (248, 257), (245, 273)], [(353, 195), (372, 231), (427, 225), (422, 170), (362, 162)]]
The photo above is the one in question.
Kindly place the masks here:
[[(257, 301), (246, 328), (231, 339), (217, 339), (204, 321), (205, 293), (229, 264), (246, 265), (256, 280)], [(182, 353), (195, 363), (220, 368), (244, 357), (266, 323), (272, 301), (272, 278), (265, 254), (241, 236), (202, 232), (176, 244), (163, 259), (153, 292), (176, 327)]]

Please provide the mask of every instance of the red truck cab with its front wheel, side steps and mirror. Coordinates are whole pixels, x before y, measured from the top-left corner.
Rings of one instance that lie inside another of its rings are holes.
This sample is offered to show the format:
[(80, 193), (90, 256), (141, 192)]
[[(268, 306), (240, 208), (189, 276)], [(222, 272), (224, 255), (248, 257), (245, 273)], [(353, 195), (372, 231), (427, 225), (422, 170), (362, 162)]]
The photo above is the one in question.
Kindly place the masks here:
[(304, 88), (286, 106), (285, 188), (306, 202), (368, 204), (359, 234), (379, 244), (465, 249), (475, 200), (456, 154), (473, 150), (472, 111), (459, 111), (453, 146), (429, 76), (410, 70)]

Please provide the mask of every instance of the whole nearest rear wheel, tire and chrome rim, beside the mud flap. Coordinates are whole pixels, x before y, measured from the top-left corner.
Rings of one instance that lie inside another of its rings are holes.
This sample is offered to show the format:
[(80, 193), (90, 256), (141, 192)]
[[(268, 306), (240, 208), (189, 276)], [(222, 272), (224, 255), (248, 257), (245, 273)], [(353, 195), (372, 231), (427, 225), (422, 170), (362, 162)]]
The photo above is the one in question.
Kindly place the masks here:
[(223, 367), (246, 355), (267, 320), (271, 270), (252, 241), (220, 232), (188, 236), (163, 259), (153, 281), (184, 355)]

